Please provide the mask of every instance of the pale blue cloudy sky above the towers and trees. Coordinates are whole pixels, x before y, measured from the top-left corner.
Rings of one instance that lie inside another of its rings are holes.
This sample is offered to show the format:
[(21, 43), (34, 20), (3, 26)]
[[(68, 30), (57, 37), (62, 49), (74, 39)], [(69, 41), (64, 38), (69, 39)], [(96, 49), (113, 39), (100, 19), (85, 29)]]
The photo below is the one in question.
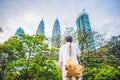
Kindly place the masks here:
[(120, 0), (0, 0), (0, 43), (14, 36), (22, 27), (26, 34), (36, 34), (43, 19), (45, 35), (51, 37), (55, 19), (61, 32), (76, 29), (76, 19), (85, 9), (91, 28), (106, 38), (120, 35)]

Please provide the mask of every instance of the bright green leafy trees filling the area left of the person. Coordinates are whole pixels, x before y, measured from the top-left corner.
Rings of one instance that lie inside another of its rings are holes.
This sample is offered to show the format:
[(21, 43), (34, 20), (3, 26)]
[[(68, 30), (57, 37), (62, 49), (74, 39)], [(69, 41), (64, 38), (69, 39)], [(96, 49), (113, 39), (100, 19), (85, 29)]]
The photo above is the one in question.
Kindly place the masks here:
[(61, 80), (55, 64), (57, 51), (45, 43), (45, 36), (21, 35), (0, 45), (0, 80)]

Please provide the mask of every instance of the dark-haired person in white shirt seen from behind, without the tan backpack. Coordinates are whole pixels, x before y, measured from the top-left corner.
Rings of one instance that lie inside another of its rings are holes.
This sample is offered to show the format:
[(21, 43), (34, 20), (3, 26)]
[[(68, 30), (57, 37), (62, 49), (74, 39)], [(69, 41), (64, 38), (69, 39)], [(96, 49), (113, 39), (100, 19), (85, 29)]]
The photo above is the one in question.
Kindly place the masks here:
[(71, 79), (72, 80), (81, 80), (81, 78), (76, 78), (71, 75), (68, 76), (68, 72), (65, 68), (66, 63), (70, 58), (70, 50), (69, 50), (70, 47), (72, 49), (71, 57), (74, 59), (74, 61), (76, 63), (78, 63), (78, 59), (80, 58), (81, 52), (80, 52), (79, 48), (72, 43), (72, 41), (73, 41), (72, 36), (66, 36), (65, 41), (66, 41), (66, 43), (61, 46), (60, 52), (59, 52), (59, 62), (60, 62), (60, 67), (62, 69), (62, 79), (63, 80), (71, 80)]

